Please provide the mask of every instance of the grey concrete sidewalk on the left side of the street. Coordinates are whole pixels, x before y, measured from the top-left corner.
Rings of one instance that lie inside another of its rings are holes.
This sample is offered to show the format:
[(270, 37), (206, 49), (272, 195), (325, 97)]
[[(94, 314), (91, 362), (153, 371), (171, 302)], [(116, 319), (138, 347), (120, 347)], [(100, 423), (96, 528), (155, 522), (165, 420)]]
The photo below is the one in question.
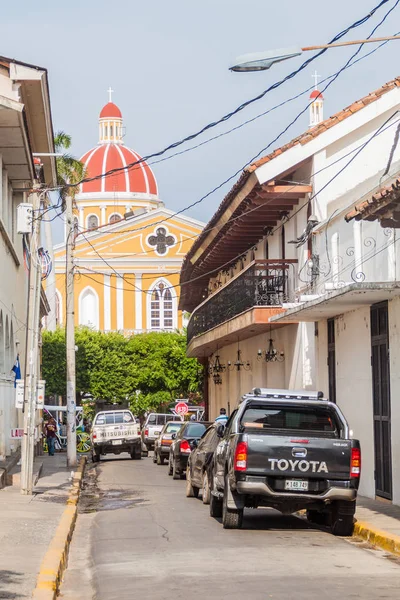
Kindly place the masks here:
[(0, 598), (30, 598), (42, 559), (65, 509), (71, 486), (66, 454), (41, 456), (32, 496), (19, 486), (0, 490)]

